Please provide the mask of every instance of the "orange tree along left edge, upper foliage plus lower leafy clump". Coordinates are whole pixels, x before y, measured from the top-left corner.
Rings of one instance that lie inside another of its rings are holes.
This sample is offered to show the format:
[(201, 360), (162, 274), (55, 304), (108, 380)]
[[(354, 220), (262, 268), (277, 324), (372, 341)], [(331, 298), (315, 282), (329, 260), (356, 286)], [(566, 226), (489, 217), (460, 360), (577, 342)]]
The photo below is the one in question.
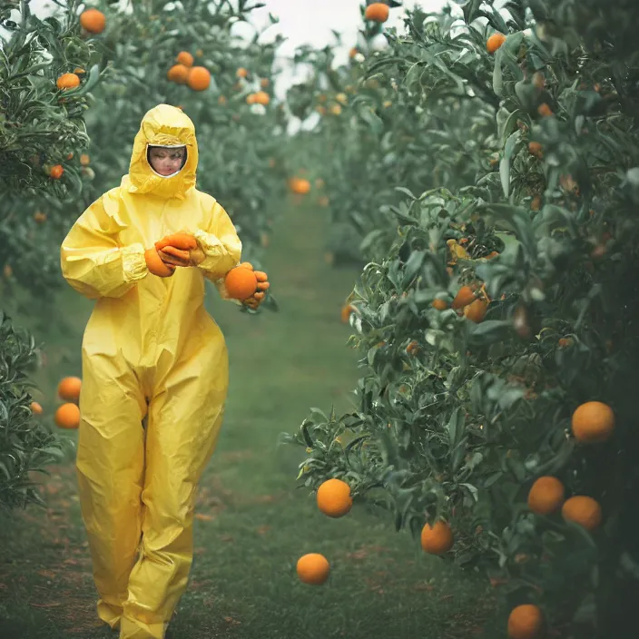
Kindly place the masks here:
[[(58, 276), (55, 233), (64, 220), (47, 220), (43, 209), (73, 211), (85, 186), (75, 154), (88, 144), (84, 110), (99, 70), (74, 28), (78, 5), (65, 3), (57, 18), (40, 20), (27, 2), (0, 2), (0, 507), (7, 509), (41, 504), (33, 473), (64, 452), (32, 403), (34, 339), (5, 310), (16, 286), (50, 299)], [(89, 71), (69, 74), (79, 67)]]

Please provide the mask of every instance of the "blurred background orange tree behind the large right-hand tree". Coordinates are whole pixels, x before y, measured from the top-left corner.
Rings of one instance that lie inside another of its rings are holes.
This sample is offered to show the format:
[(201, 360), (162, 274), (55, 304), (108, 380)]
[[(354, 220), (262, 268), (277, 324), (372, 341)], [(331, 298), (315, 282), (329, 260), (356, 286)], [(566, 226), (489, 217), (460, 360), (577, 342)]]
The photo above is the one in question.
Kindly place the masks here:
[[(360, 8), (364, 21), (348, 64), (335, 67), (330, 47), (300, 49), (296, 61), (310, 65), (313, 73), (290, 90), (293, 113), (302, 118), (319, 113), (319, 123), (300, 137), (314, 150), (311, 166), (326, 182), (322, 196), (332, 222), (327, 248), (338, 260), (386, 254), (396, 234), (388, 206), (402, 205), (401, 189), (465, 186), (496, 162), (498, 149), (491, 117), (497, 97), (487, 94), (477, 112), (462, 86), (485, 82), (488, 66), (472, 76), (425, 74), (421, 53), (394, 30), (385, 32), (383, 24), (366, 19), (367, 7)], [(442, 16), (441, 25), (419, 28), (437, 40), (453, 21)], [(375, 44), (381, 34), (389, 45), (384, 53)], [(442, 42), (431, 55), (445, 56), (460, 73), (473, 55), (460, 46)], [(393, 61), (394, 68), (385, 73)]]

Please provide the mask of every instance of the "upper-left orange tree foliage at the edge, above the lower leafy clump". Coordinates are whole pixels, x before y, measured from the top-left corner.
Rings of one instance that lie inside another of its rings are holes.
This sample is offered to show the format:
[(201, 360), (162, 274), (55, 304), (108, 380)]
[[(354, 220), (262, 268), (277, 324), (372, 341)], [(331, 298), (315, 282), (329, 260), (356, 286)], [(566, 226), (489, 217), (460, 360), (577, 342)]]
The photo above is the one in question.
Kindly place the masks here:
[[(99, 79), (99, 55), (78, 33), (79, 5), (69, 0), (57, 17), (41, 20), (26, 2), (0, 2), (3, 297), (16, 284), (39, 299), (49, 294), (58, 279), (55, 241), (84, 190), (84, 113)], [(80, 68), (84, 73), (73, 73)], [(65, 217), (47, 214), (52, 208)]]

